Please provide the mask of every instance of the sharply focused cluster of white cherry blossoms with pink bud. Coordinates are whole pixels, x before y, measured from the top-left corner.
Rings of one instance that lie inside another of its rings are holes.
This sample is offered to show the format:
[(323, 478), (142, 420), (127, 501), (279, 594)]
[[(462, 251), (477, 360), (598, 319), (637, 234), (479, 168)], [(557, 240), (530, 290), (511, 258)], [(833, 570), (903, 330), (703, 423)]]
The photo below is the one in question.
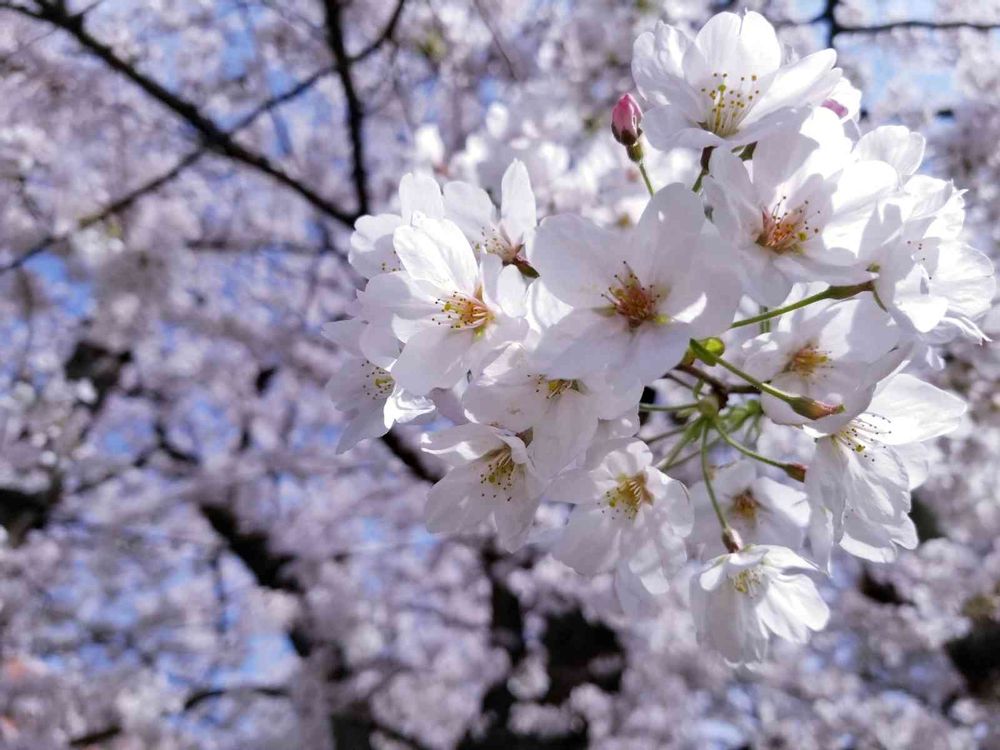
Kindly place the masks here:
[[(752, 12), (640, 36), (648, 112), (626, 95), (611, 118), (649, 187), (632, 226), (539, 222), (517, 160), (499, 196), (404, 177), (398, 214), (357, 222), (367, 285), (329, 328), (352, 355), (331, 382), (340, 448), (440, 412), (432, 531), (489, 522), (507, 549), (546, 545), (613, 575), (636, 616), (702, 558), (691, 609), (733, 664), (823, 628), (835, 547), (886, 562), (916, 546), (924, 443), (965, 411), (916, 373), (985, 338), (994, 293), (962, 192), (917, 174), (918, 134), (858, 136), (835, 62), (790, 59)], [(654, 189), (643, 139), (700, 149), (694, 186)], [(532, 535), (542, 501), (573, 506), (555, 535)]]

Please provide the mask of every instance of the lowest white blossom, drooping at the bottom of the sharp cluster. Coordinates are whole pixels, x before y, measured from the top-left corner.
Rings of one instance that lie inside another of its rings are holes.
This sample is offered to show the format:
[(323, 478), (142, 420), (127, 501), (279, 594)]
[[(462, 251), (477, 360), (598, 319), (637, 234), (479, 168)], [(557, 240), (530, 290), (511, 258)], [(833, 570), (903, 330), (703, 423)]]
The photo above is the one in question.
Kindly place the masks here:
[(710, 560), (691, 579), (698, 642), (733, 665), (757, 664), (771, 635), (794, 643), (826, 627), (830, 610), (805, 575), (817, 568), (786, 547), (750, 545)]

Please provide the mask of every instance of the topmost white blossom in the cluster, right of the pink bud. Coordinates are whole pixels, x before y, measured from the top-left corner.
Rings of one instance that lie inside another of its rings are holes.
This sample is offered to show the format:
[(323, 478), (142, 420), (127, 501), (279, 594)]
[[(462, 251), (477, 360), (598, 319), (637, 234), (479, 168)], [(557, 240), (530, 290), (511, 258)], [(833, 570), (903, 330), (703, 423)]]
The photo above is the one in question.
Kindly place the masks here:
[(719, 13), (691, 39), (658, 23), (635, 42), (632, 76), (654, 106), (646, 136), (659, 149), (744, 146), (795, 122), (840, 80), (832, 49), (782, 61), (774, 27), (759, 13)]

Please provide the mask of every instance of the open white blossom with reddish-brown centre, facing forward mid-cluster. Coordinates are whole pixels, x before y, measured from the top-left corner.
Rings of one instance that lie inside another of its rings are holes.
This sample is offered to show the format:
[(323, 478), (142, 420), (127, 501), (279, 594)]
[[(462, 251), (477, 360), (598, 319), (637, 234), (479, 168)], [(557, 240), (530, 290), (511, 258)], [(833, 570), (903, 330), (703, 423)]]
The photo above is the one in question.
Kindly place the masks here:
[(689, 339), (721, 333), (737, 301), (725, 246), (680, 185), (657, 193), (627, 237), (575, 216), (547, 219), (529, 259), (571, 308), (538, 344), (553, 377), (649, 383), (680, 361)]

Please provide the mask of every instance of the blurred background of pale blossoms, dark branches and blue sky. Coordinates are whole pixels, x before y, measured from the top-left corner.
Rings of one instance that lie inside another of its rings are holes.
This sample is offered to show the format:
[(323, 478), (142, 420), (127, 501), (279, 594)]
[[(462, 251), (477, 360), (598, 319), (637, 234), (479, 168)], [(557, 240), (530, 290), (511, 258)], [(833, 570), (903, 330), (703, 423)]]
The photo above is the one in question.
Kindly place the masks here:
[(0, 747), (1000, 748), (994, 346), (935, 376), (971, 417), (920, 546), (837, 558), (829, 628), (756, 674), (697, 646), (690, 571), (628, 621), (429, 535), (419, 428), (334, 451), (354, 221), (515, 157), (541, 216), (634, 221), (634, 38), (742, 7), (924, 133), (997, 258), (997, 0), (0, 0)]

